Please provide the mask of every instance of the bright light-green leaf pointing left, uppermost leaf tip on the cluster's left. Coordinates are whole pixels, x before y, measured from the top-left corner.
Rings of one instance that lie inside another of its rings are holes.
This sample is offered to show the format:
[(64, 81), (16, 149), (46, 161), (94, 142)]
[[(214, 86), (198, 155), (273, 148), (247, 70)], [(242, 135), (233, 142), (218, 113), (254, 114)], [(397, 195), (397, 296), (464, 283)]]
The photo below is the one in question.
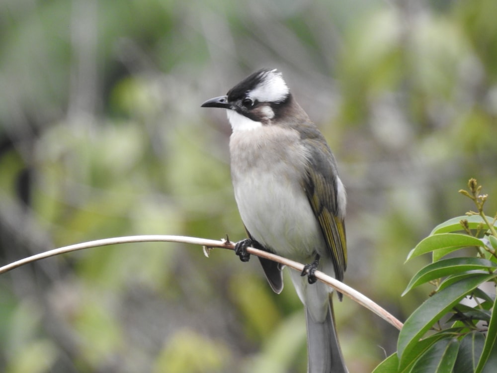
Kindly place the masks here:
[(416, 247), (408, 255), (406, 261), (417, 257), (418, 255), (429, 253), (431, 251), (441, 250), (443, 255), (455, 251), (457, 249), (468, 246), (485, 246), (478, 238), (459, 233), (441, 233), (433, 236), (428, 236), (421, 240)]

